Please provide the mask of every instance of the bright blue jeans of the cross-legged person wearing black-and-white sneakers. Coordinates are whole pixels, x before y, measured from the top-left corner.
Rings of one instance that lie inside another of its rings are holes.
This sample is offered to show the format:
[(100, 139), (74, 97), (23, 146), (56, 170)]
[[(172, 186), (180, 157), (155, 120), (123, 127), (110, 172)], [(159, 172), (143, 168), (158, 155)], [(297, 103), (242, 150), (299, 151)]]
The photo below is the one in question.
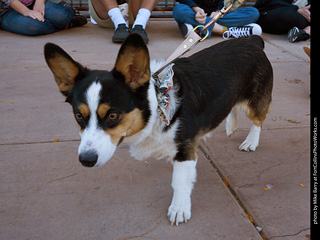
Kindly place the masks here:
[[(196, 13), (192, 10), (191, 7), (185, 4), (178, 4), (173, 9), (173, 17), (177, 21), (179, 27), (188, 23), (193, 27), (198, 25), (206, 25), (208, 22), (212, 20), (212, 18), (207, 17), (205, 24), (200, 24), (196, 21)], [(244, 7), (238, 8), (235, 11), (227, 12), (226, 15), (219, 18), (217, 21), (218, 24), (225, 27), (240, 27), (247, 25), (249, 23), (254, 23), (259, 19), (259, 11), (254, 7)], [(211, 36), (212, 29), (214, 24), (208, 28), (209, 37)]]

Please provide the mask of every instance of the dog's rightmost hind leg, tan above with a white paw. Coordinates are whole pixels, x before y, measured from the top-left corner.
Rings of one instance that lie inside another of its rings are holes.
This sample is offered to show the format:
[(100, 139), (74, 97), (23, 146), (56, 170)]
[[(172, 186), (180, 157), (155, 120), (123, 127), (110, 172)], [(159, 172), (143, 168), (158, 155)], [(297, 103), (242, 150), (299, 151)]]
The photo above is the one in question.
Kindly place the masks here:
[(250, 106), (247, 106), (247, 107), (248, 107), (247, 116), (250, 118), (250, 120), (253, 121), (253, 124), (251, 125), (250, 132), (247, 138), (239, 146), (240, 150), (243, 150), (246, 152), (255, 151), (259, 145), (261, 127), (269, 111), (269, 103), (262, 108), (261, 108), (261, 104), (260, 104), (260, 108), (256, 108), (256, 107), (252, 108)]

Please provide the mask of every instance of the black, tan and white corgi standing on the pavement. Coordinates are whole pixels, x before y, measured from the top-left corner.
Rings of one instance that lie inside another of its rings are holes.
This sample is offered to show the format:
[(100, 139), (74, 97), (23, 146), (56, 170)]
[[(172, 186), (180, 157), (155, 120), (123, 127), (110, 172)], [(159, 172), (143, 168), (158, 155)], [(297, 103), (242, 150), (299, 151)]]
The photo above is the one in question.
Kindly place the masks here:
[(44, 48), (46, 62), (80, 128), (79, 161), (85, 167), (105, 164), (124, 142), (134, 158), (172, 161), (171, 224), (191, 218), (199, 140), (226, 119), (226, 133), (237, 128), (237, 112), (253, 122), (240, 150), (254, 151), (269, 111), (273, 70), (259, 36), (220, 42), (173, 61), (173, 86), (165, 113), (158, 111), (155, 79), (164, 61), (150, 61), (138, 34), (123, 42), (110, 71), (91, 70), (55, 44)]

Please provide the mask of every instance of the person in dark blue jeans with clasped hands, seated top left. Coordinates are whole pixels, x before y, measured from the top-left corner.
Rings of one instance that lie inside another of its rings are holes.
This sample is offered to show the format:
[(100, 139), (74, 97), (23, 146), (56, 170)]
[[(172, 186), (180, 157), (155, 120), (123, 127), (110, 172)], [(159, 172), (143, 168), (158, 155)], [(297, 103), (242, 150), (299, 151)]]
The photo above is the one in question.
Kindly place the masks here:
[(63, 1), (0, 0), (0, 27), (9, 32), (37, 36), (86, 23), (85, 16)]

